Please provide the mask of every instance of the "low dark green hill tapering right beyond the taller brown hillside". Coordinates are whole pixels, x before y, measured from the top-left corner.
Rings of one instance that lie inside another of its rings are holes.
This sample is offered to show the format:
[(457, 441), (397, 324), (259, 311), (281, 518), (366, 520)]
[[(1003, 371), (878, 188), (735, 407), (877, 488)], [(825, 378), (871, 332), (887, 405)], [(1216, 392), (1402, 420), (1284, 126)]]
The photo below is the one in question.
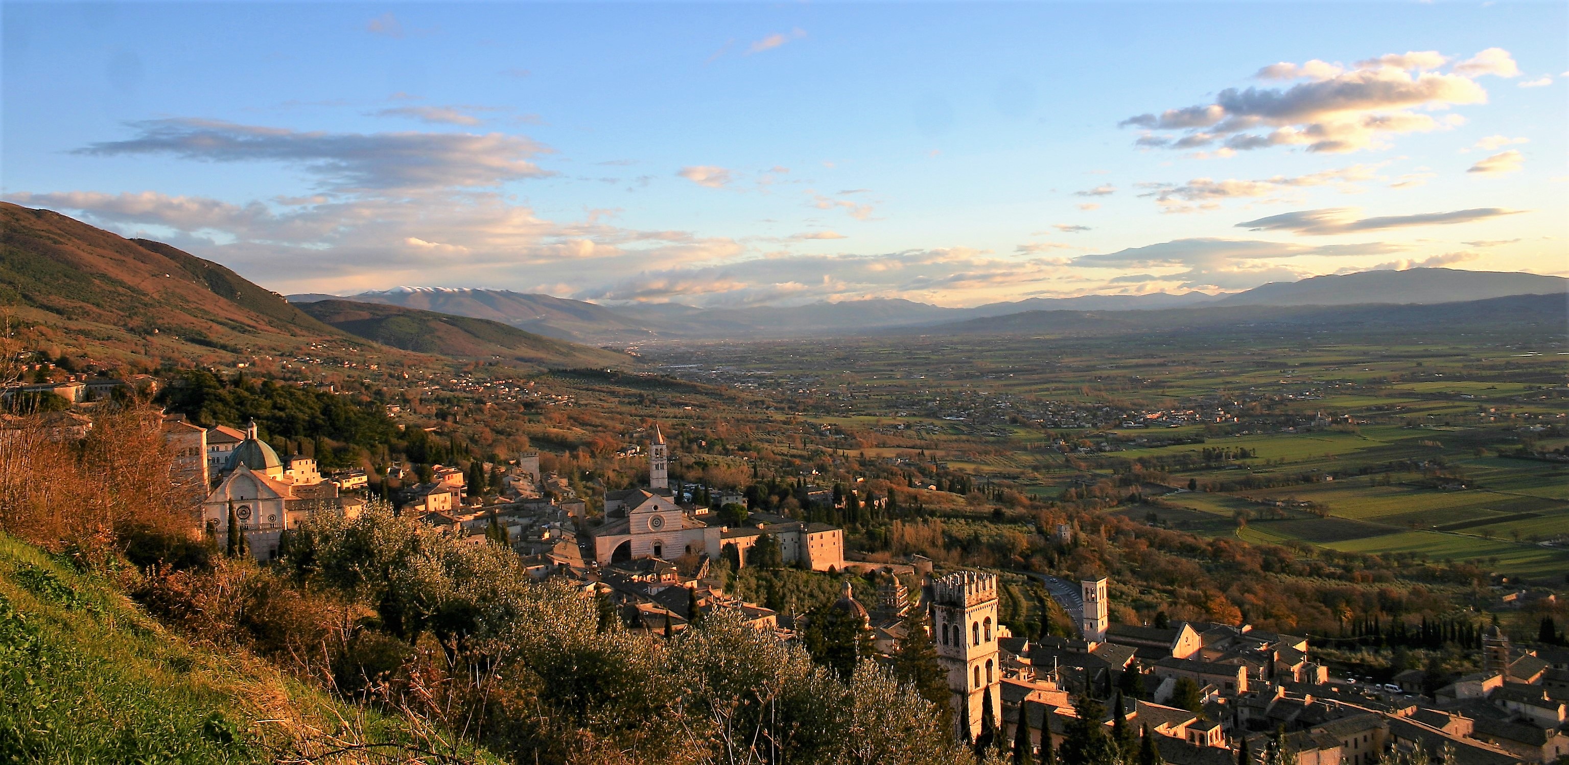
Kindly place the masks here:
[(488, 319), (350, 300), (317, 300), (300, 303), (300, 308), (358, 338), (420, 353), (502, 357), (555, 368), (626, 366), (631, 361), (624, 353), (574, 346)]

